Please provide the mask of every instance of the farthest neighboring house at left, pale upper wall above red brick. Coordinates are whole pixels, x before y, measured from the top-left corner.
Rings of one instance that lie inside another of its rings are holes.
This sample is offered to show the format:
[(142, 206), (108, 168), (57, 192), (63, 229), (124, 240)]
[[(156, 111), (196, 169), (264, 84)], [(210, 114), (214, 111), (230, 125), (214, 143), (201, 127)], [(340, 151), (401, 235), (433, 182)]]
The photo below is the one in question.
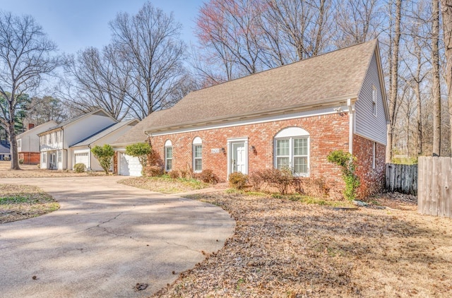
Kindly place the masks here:
[(23, 160), (25, 165), (37, 165), (40, 163), (40, 137), (37, 134), (54, 126), (57, 126), (57, 122), (51, 120), (16, 136), (19, 160)]

